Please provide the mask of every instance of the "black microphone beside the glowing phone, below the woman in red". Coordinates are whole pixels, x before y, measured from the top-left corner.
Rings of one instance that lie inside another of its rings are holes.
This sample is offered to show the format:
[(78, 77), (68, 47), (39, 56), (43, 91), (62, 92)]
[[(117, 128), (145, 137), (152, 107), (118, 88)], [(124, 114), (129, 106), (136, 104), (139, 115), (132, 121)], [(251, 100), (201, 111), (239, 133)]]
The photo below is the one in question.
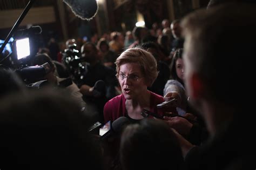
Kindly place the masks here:
[(113, 121), (110, 132), (105, 133), (100, 138), (100, 140), (104, 140), (104, 139), (119, 135), (128, 124), (130, 124), (130, 120), (128, 118), (119, 117), (118, 119)]

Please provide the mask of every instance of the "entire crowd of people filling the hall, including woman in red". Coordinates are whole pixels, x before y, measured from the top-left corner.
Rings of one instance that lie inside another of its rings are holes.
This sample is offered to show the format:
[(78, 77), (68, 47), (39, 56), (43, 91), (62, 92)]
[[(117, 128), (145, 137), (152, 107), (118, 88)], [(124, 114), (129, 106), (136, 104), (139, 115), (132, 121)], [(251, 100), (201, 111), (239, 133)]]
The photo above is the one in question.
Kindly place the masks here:
[(0, 169), (255, 169), (255, 9), (212, 0), (161, 29), (42, 47), (30, 85), (1, 67)]

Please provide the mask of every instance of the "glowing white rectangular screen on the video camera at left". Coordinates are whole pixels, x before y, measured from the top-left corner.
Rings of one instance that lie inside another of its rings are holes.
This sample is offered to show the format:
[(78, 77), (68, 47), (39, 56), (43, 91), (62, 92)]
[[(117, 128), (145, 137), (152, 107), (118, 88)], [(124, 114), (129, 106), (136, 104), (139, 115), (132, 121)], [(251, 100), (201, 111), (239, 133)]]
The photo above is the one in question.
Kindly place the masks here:
[(30, 55), (29, 38), (16, 41), (17, 58), (22, 59)]

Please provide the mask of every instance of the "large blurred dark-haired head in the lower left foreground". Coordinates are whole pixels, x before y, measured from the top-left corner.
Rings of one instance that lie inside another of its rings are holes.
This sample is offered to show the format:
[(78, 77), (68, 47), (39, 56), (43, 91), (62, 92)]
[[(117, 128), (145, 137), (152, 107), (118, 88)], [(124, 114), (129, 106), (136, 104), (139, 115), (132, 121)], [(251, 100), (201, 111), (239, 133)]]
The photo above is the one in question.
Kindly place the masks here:
[[(88, 118), (63, 93), (17, 93), (0, 104), (3, 169), (102, 168)], [(15, 106), (15, 107), (14, 107)]]

